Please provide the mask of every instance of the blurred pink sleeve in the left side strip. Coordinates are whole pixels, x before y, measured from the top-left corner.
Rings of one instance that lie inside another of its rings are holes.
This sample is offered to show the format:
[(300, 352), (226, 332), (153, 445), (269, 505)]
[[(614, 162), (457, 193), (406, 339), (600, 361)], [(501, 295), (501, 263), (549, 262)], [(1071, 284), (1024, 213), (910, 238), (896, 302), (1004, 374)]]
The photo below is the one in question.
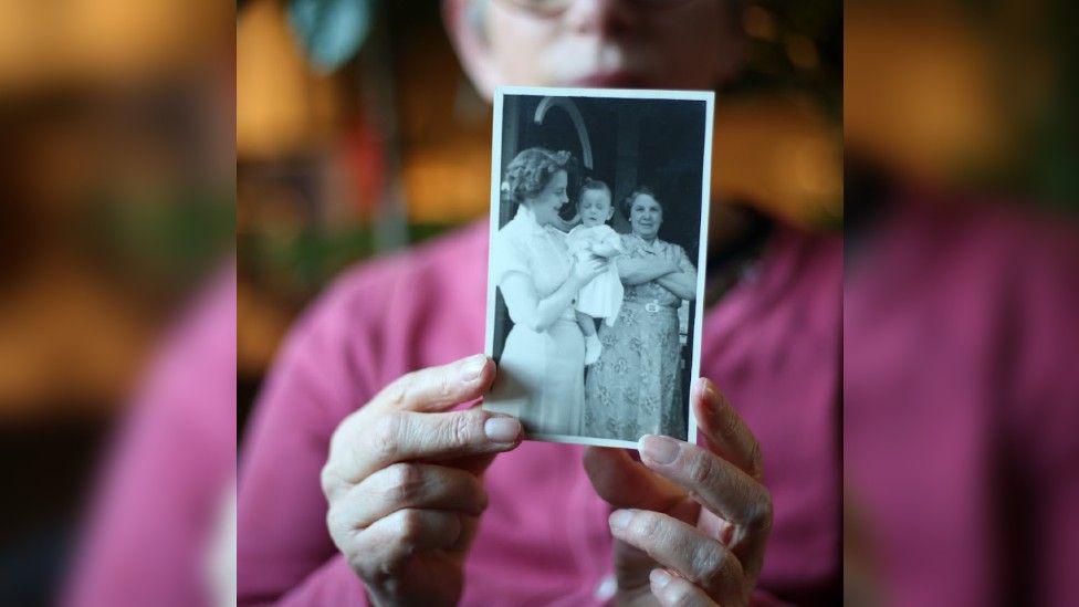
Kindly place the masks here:
[(234, 603), (235, 273), (164, 337), (115, 436), (64, 605)]

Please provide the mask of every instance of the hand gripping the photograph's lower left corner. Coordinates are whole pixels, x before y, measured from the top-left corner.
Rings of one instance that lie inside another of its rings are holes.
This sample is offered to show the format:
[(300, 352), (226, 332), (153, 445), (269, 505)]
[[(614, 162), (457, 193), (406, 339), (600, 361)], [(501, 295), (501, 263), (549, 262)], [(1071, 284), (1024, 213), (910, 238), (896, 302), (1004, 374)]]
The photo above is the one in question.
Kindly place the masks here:
[(451, 605), (486, 507), (483, 471), (521, 443), (521, 423), (449, 411), (494, 380), (483, 355), (410, 373), (334, 431), (322, 488), (329, 535), (375, 605)]

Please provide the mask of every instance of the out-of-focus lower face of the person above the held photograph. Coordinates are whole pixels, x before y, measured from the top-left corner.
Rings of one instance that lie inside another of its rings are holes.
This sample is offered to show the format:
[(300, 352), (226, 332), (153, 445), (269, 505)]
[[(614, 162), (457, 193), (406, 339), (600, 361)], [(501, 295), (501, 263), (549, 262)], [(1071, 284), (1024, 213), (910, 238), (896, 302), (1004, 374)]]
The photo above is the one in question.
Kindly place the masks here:
[(499, 84), (710, 90), (741, 60), (726, 0), (475, 1), (480, 24), (451, 25), (488, 96)]

